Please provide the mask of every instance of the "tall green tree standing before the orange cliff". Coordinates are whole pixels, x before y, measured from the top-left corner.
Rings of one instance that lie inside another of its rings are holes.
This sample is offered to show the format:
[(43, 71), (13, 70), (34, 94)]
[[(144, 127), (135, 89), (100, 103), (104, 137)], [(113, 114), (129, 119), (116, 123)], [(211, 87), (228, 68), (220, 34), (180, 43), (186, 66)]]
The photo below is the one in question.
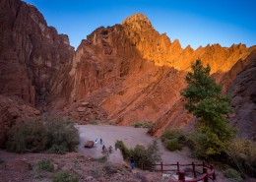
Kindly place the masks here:
[(187, 98), (185, 108), (198, 118), (196, 129), (200, 137), (196, 144), (203, 145), (202, 156), (220, 154), (235, 133), (225, 118), (231, 112), (230, 98), (222, 94), (222, 86), (210, 77), (209, 65), (204, 67), (201, 60), (197, 60), (191, 68), (192, 72), (186, 76), (188, 86), (181, 94)]

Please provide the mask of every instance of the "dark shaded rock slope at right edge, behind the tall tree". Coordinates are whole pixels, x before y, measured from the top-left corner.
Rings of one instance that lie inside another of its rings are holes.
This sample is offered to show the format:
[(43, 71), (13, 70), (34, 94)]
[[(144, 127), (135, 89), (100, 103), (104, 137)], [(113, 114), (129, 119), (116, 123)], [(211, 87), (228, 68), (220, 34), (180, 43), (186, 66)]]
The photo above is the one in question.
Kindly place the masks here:
[(256, 141), (256, 50), (225, 74), (223, 84), (232, 97), (233, 113), (228, 117), (238, 136)]

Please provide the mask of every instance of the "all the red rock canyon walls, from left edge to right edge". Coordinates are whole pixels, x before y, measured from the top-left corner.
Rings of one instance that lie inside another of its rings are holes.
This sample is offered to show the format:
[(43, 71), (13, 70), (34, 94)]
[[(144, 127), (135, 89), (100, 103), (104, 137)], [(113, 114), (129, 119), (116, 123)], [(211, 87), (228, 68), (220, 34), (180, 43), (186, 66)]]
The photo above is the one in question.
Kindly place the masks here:
[(237, 135), (256, 140), (255, 46), (182, 48), (134, 14), (96, 29), (75, 51), (32, 5), (2, 0), (0, 10), (0, 147), (17, 121), (52, 111), (80, 124), (153, 122), (157, 137), (166, 128), (190, 130), (196, 119), (180, 91), (197, 59), (230, 94), (226, 117)]

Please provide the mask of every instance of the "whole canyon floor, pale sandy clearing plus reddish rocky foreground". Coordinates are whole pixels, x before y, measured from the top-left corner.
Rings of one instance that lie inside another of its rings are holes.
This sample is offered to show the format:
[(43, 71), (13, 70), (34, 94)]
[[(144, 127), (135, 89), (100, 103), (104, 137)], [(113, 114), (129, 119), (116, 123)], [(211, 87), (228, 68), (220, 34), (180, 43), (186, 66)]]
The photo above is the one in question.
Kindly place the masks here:
[[(135, 168), (130, 170), (128, 161), (122, 159), (121, 153), (114, 150), (116, 140), (122, 140), (128, 148), (137, 144), (147, 146), (154, 138), (147, 135), (147, 129), (110, 126), (110, 125), (77, 125), (80, 131), (80, 145), (77, 152), (66, 154), (52, 153), (25, 153), (18, 154), (0, 151), (0, 182), (46, 182), (52, 180), (52, 175), (58, 170), (69, 170), (79, 176), (79, 181), (92, 182), (165, 182), (169, 178), (163, 178), (160, 172), (142, 171)], [(96, 140), (97, 145), (93, 149), (85, 149), (84, 143), (88, 140)], [(108, 161), (100, 161), (102, 156), (99, 139), (108, 148), (113, 147)], [(161, 158), (164, 163), (189, 163), (197, 161), (189, 157), (189, 150), (181, 152), (167, 152), (160, 144)], [(54, 171), (38, 170), (38, 161), (50, 158), (54, 164)], [(200, 162), (200, 161), (197, 161)], [(202, 162), (202, 161), (201, 161)], [(218, 181), (228, 182), (222, 172), (217, 172)]]

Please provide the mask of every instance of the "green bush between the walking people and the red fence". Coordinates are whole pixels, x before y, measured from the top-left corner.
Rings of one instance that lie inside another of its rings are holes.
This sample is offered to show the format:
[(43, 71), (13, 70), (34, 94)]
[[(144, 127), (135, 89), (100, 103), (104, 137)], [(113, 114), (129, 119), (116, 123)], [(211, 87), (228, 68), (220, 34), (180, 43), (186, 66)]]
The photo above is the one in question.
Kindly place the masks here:
[(158, 142), (154, 141), (147, 148), (141, 145), (137, 145), (134, 149), (128, 150), (122, 141), (117, 141), (115, 143), (115, 149), (119, 149), (125, 159), (134, 158), (135, 165), (144, 169), (145, 167), (150, 167), (160, 161), (160, 149)]

